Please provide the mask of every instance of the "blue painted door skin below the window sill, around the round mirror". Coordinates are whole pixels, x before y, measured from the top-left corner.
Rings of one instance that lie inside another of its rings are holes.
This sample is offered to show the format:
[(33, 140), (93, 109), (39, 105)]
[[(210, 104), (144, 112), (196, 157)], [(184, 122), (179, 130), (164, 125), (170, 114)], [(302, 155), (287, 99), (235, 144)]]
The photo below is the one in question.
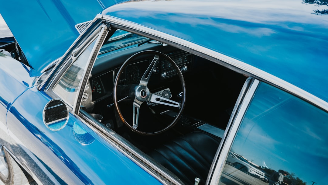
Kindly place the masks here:
[(29, 88), (7, 115), (11, 150), (35, 178), (45, 178), (38, 179), (43, 184), (160, 184), (72, 114), (63, 129), (48, 129), (40, 107), (50, 100), (43, 91)]

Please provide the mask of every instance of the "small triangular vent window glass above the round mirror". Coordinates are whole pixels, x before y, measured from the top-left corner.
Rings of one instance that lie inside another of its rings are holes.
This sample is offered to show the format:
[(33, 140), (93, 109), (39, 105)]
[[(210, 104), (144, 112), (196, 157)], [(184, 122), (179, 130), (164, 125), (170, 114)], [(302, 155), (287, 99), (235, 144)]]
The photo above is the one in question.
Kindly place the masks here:
[[(82, 80), (85, 67), (90, 60), (92, 49), (96, 43), (94, 39), (85, 50), (80, 51), (80, 55), (66, 71), (60, 81), (54, 86), (53, 92), (60, 96), (66, 103), (73, 105), (76, 98), (78, 87)], [(76, 54), (78, 55), (78, 54)], [(72, 58), (71, 58), (72, 60)]]

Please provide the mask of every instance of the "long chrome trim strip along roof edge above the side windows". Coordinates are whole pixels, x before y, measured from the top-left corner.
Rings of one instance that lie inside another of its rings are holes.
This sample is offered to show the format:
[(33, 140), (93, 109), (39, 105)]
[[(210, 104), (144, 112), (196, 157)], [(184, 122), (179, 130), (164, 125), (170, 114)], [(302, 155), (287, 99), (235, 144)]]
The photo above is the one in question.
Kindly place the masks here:
[[(122, 20), (113, 16), (103, 15), (103, 19), (109, 21), (113, 26), (118, 27), (119, 29), (123, 28), (127, 31), (133, 31), (136, 33), (140, 33), (140, 35), (144, 35), (150, 38), (154, 38), (155, 40), (162, 41), (166, 44), (178, 45), (177, 47), (191, 53), (199, 53), (201, 57), (210, 59), (215, 61), (216, 63), (220, 63), (225, 67), (228, 67), (234, 71), (240, 71), (241, 73), (246, 73), (249, 76), (254, 76), (261, 81), (268, 82), (274, 86), (277, 86), (283, 90), (286, 90), (302, 99), (305, 99), (312, 104), (317, 105), (318, 107), (328, 111), (328, 102), (323, 101), (322, 99), (312, 95), (311, 93), (287, 82), (276, 76), (273, 76), (263, 70), (260, 70), (254, 66), (251, 66), (247, 63), (239, 61), (237, 59), (225, 56), (218, 52), (212, 51), (203, 46), (199, 46), (195, 43), (183, 40), (181, 38), (168, 35), (156, 30), (152, 30), (148, 27), (144, 27), (139, 24), (135, 24), (130, 21)], [(187, 48), (186, 48), (187, 47)], [(217, 61), (220, 60), (220, 61)]]

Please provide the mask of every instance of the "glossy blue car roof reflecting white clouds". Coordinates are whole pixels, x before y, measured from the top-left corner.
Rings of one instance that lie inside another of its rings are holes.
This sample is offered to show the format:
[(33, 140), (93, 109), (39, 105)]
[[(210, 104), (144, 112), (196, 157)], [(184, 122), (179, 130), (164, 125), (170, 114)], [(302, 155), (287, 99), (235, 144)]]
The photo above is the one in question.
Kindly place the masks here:
[(328, 15), (317, 9), (302, 0), (173, 0), (122, 3), (102, 14), (236, 58), (328, 102)]

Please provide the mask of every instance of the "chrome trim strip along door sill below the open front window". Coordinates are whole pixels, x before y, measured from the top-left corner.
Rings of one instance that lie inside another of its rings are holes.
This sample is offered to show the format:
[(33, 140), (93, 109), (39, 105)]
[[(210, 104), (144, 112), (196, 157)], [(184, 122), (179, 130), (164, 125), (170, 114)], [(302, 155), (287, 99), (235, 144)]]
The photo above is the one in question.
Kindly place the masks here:
[(169, 174), (170, 172), (166, 172), (156, 166), (154, 164), (157, 163), (156, 161), (150, 161), (148, 157), (140, 155), (140, 153), (143, 153), (141, 150), (128, 143), (123, 137), (118, 135), (110, 128), (105, 125), (95, 123), (81, 112), (79, 113), (79, 116), (76, 117), (85, 125), (91, 126), (89, 128), (91, 128), (95, 133), (99, 133), (98, 135), (100, 137), (107, 140), (108, 143), (110, 143), (115, 149), (122, 152), (125, 156), (131, 159), (135, 164), (152, 175), (162, 184), (182, 185), (182, 182), (172, 178), (174, 174)]

